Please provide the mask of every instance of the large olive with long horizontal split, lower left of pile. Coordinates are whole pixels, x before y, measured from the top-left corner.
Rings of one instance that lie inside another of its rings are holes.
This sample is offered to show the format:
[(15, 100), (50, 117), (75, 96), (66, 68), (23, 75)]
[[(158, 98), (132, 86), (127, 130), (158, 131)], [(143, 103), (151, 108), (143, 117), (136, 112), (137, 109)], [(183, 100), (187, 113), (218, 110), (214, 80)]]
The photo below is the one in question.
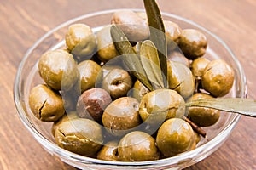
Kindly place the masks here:
[(82, 156), (96, 156), (103, 144), (102, 129), (90, 119), (61, 122), (55, 129), (55, 141), (63, 149)]

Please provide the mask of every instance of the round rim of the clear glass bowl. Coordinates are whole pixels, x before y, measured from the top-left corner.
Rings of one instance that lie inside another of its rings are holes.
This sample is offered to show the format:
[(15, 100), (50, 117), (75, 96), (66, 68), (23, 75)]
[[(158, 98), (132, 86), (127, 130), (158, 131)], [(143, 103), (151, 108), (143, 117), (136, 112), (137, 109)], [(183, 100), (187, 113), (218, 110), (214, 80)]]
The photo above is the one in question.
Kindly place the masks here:
[[(197, 147), (195, 150), (184, 152), (183, 154), (181, 154), (179, 156), (173, 156), (173, 157), (169, 157), (169, 158), (165, 158), (165, 159), (160, 159), (157, 161), (135, 161), (135, 162), (103, 161), (103, 160), (98, 160), (98, 159), (90, 158), (90, 157), (86, 157), (86, 156), (79, 156), (78, 154), (75, 154), (68, 150), (64, 150), (61, 147), (57, 146), (56, 144), (49, 142), (49, 140), (46, 139), (43, 134), (38, 132), (38, 130), (35, 127), (33, 127), (32, 122), (30, 122), (28, 117), (26, 116), (26, 111), (23, 110), (22, 103), (20, 102), (20, 75), (21, 75), (21, 71), (26, 63), (26, 59), (28, 59), (28, 57), (32, 53), (33, 49), (38, 47), (40, 42), (42, 42), (46, 37), (49, 37), (49, 35), (51, 35), (52, 33), (61, 29), (64, 26), (68, 26), (76, 21), (83, 20), (83, 19), (89, 18), (89, 17), (93, 17), (93, 16), (96, 16), (99, 14), (111, 14), (113, 12), (116, 12), (119, 10), (124, 10), (124, 9), (131, 9), (136, 12), (145, 12), (145, 10), (143, 8), (116, 8), (116, 9), (102, 10), (102, 11), (98, 11), (98, 12), (94, 12), (94, 13), (90, 13), (90, 14), (83, 14), (83, 15), (80, 15), (79, 17), (73, 18), (71, 20), (67, 20), (66, 22), (62, 23), (61, 25), (56, 26), (54, 29), (46, 32), (43, 37), (40, 37), (38, 39), (38, 41), (35, 42), (32, 45), (32, 47), (27, 50), (26, 54), (24, 55), (23, 59), (20, 62), (19, 68), (16, 72), (15, 84), (14, 84), (15, 106), (16, 106), (16, 110), (18, 111), (18, 115), (20, 116), (21, 122), (25, 125), (26, 129), (28, 129), (28, 131), (30, 133), (32, 133), (33, 137), (35, 139), (37, 139), (38, 142), (40, 144), (42, 144), (42, 146), (44, 146), (44, 149), (51, 151), (51, 153), (61, 156), (62, 158), (66, 158), (68, 160), (76, 161), (76, 162), (79, 161), (80, 163), (86, 163), (86, 164), (93, 163), (93, 164), (108, 165), (108, 166), (113, 165), (113, 166), (131, 166), (131, 167), (150, 166), (150, 165), (154, 165), (154, 166), (161, 165), (162, 166), (162, 165), (170, 165), (170, 162), (173, 162), (173, 164), (178, 164), (179, 161), (189, 160), (201, 152), (206, 152), (206, 153), (208, 152), (207, 156), (209, 156), (210, 154), (212, 154), (212, 152), (217, 150), (218, 147), (220, 147), (221, 143), (224, 143), (225, 139), (227, 139), (227, 137), (230, 135), (231, 130), (234, 127), (236, 127), (236, 123), (241, 118), (240, 115), (237, 114), (236, 116), (234, 116), (234, 118), (230, 122), (230, 124), (228, 126), (224, 127), (224, 129), (220, 133), (218, 133), (218, 135), (216, 137), (214, 137), (213, 139), (208, 141), (206, 144), (202, 144), (201, 146)], [(188, 20), (188, 19), (183, 18), (182, 16), (179, 16), (177, 14), (170, 14), (170, 13), (166, 13), (166, 12), (161, 12), (161, 14), (163, 16), (172, 17), (177, 20), (182, 20), (183, 22), (186, 22), (192, 26), (198, 27), (202, 31), (205, 31), (205, 32), (207, 32), (207, 34), (214, 37), (218, 42), (220, 42), (224, 46), (224, 48), (228, 51), (230, 56), (234, 59), (234, 62), (236, 63), (236, 66), (239, 70), (239, 76), (241, 77), (241, 83), (242, 83), (241, 98), (247, 97), (246, 77), (245, 77), (244, 71), (241, 67), (241, 64), (238, 61), (238, 59), (236, 58), (236, 56), (232, 53), (230, 48), (225, 44), (225, 42), (221, 38), (219, 38), (218, 36), (213, 34), (211, 31), (208, 31), (203, 26), (198, 25), (197, 23), (195, 23), (192, 20)], [(227, 137), (223, 139), (223, 136), (227, 136)], [(218, 146), (218, 147), (216, 147), (216, 146)], [(212, 150), (213, 148), (214, 148), (214, 150)], [(205, 157), (207, 157), (207, 156), (205, 156)], [(201, 158), (201, 160), (204, 158)], [(199, 160), (199, 161), (201, 161), (201, 160)]]

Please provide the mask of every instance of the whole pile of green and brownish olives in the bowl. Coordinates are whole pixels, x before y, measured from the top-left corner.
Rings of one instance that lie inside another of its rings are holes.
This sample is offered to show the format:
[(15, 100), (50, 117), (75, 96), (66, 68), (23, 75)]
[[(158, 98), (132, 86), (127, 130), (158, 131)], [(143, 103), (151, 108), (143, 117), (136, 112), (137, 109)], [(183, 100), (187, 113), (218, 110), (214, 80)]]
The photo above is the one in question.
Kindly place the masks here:
[[(147, 16), (131, 10), (113, 14), (139, 54), (148, 40)], [(230, 92), (234, 73), (224, 60), (208, 60), (207, 37), (164, 21), (169, 88), (149, 90), (119, 62), (110, 26), (93, 32), (85, 24), (69, 26), (65, 49), (44, 53), (38, 72), (45, 84), (32, 88), (29, 105), (61, 148), (108, 161), (152, 161), (193, 150), (200, 141), (188, 116), (200, 127), (218, 122), (220, 112), (191, 107), (194, 99)], [(177, 44), (176, 47), (173, 44)], [(180, 48), (180, 50), (177, 50)]]

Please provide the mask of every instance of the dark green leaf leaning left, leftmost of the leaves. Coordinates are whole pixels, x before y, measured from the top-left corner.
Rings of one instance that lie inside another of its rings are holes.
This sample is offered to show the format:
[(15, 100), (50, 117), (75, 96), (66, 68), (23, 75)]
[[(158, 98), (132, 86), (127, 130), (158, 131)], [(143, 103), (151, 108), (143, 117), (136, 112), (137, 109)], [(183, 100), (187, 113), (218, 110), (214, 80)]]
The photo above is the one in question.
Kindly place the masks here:
[(131, 71), (131, 74), (134, 77), (137, 77), (137, 79), (142, 82), (148, 90), (153, 91), (154, 88), (148, 81), (143, 65), (141, 64), (135, 50), (132, 48), (131, 43), (128, 41), (127, 37), (125, 37), (124, 32), (119, 28), (119, 26), (112, 25), (110, 33), (116, 50), (119, 54), (124, 55), (122, 59), (124, 60), (127, 70)]

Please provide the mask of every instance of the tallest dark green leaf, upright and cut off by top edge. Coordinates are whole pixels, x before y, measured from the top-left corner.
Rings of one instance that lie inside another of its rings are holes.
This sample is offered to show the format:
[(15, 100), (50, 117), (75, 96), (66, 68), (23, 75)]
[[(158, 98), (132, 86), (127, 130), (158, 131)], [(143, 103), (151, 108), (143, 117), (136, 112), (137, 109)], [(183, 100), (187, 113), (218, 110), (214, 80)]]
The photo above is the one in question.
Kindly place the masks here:
[(148, 17), (148, 26), (150, 31), (150, 40), (154, 42), (155, 47), (158, 49), (160, 59), (160, 68), (165, 88), (168, 88), (167, 79), (167, 44), (166, 44), (166, 30), (160, 8), (155, 0), (144, 0), (144, 6)]

